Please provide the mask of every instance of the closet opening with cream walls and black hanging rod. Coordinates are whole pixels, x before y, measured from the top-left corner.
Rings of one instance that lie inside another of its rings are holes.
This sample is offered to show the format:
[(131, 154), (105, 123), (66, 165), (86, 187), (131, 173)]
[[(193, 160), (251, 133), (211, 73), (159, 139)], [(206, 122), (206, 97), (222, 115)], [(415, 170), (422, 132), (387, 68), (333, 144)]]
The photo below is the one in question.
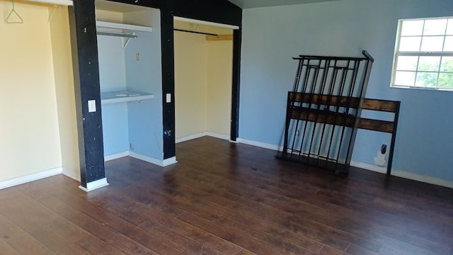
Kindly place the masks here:
[(173, 27), (176, 143), (205, 135), (229, 140), (239, 27), (180, 17)]

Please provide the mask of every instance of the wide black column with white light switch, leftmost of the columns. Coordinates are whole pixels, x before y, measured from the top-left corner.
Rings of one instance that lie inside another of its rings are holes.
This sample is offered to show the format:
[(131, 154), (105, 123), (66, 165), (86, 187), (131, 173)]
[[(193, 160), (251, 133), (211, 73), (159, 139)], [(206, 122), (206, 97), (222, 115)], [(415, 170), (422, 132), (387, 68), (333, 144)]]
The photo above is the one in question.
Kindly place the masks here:
[[(74, 0), (74, 6), (69, 8), (69, 26), (74, 67), (81, 186), (86, 188), (86, 183), (105, 178), (94, 0)], [(96, 101), (96, 111), (89, 113), (88, 101), (91, 100)]]

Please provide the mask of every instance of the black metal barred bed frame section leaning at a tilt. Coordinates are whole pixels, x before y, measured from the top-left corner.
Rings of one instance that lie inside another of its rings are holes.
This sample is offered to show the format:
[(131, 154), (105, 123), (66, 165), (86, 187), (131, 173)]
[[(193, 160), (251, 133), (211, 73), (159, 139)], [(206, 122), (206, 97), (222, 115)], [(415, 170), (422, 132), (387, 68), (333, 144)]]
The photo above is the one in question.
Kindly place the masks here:
[(373, 58), (299, 55), (277, 158), (348, 175)]

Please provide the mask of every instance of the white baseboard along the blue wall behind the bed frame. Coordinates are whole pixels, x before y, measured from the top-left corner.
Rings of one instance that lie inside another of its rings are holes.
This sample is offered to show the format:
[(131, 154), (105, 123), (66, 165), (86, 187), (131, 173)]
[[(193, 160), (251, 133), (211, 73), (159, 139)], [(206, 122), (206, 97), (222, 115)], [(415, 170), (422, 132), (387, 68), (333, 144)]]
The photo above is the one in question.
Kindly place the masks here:
[[(283, 149), (283, 147), (280, 145), (270, 145), (265, 142), (257, 142), (257, 141), (253, 141), (253, 140), (243, 139), (243, 138), (237, 138), (236, 142), (243, 143), (246, 145), (253, 145), (253, 146), (261, 147), (261, 148), (265, 148), (265, 149), (273, 149), (278, 152), (281, 152)], [(386, 174), (386, 172), (387, 172), (387, 168), (384, 166), (377, 166), (374, 164), (368, 164), (368, 163), (364, 163), (364, 162), (357, 162), (357, 161), (351, 160), (350, 165), (359, 167), (361, 169), (369, 170), (369, 171), (376, 171), (376, 172), (382, 173), (382, 174)], [(409, 171), (391, 169), (391, 175), (401, 177), (404, 179), (410, 179), (413, 181), (421, 181), (424, 183), (430, 183), (430, 184), (435, 184), (438, 186), (444, 186), (447, 188), (453, 188), (453, 181), (439, 179), (439, 178), (435, 178), (432, 176), (425, 176), (422, 174), (415, 174), (415, 173), (411, 173)]]

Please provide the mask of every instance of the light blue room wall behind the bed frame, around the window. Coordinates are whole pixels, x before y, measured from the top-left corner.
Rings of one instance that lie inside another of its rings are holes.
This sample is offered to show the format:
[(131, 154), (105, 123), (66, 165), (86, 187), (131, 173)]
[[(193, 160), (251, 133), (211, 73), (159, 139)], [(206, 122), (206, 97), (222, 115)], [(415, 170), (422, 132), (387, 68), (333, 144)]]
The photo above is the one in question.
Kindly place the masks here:
[[(400, 18), (453, 16), (451, 0), (344, 0), (243, 10), (239, 137), (282, 145), (297, 55), (374, 57), (367, 98), (401, 101), (393, 169), (453, 181), (453, 92), (390, 88)], [(368, 115), (372, 113), (367, 113)], [(390, 135), (360, 130), (352, 160), (374, 164)]]

